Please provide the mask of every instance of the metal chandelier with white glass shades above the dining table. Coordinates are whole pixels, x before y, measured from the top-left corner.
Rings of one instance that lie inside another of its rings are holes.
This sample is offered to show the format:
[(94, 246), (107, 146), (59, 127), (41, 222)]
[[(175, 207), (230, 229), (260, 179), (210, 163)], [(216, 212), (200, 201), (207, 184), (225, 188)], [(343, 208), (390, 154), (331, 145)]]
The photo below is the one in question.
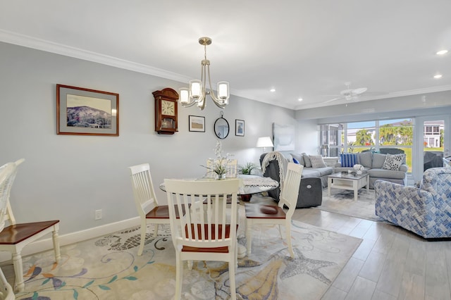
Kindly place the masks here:
[[(205, 97), (206, 95), (210, 95), (216, 106), (219, 108), (225, 108), (228, 104), (228, 98), (230, 96), (228, 82), (218, 82), (218, 89), (216, 89), (218, 96), (216, 96), (213, 89), (211, 89), (210, 61), (206, 59), (206, 46), (211, 44), (211, 39), (209, 37), (201, 37), (199, 39), (199, 44), (204, 46), (204, 59), (201, 62), (201, 79), (190, 80), (190, 89), (187, 89), (186, 87), (180, 89), (180, 104), (185, 107), (190, 107), (197, 104), (197, 107), (203, 111), (205, 108)], [(208, 82), (206, 81), (207, 75)], [(209, 85), (208, 91), (206, 90), (206, 83)]]

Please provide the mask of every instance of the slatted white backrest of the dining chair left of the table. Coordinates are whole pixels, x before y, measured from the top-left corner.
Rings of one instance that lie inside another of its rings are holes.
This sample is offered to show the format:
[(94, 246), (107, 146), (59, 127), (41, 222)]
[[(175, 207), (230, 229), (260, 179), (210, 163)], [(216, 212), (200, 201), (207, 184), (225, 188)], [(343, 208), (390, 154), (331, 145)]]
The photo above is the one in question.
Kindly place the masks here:
[(137, 211), (140, 216), (145, 216), (149, 211), (152, 211), (155, 206), (159, 205), (155, 196), (149, 163), (133, 165), (132, 167), (129, 167), (129, 169)]

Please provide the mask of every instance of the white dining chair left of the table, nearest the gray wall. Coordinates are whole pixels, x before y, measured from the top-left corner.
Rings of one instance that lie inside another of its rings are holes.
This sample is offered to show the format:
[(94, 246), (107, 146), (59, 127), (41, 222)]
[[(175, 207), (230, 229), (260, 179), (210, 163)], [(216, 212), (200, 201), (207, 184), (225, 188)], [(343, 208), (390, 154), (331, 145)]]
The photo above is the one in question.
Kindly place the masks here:
[(138, 256), (142, 256), (146, 242), (147, 224), (154, 225), (154, 237), (156, 237), (159, 225), (169, 224), (169, 211), (167, 205), (159, 205), (158, 199), (156, 199), (149, 163), (132, 165), (128, 168), (130, 169), (135, 206), (141, 219), (141, 241)]

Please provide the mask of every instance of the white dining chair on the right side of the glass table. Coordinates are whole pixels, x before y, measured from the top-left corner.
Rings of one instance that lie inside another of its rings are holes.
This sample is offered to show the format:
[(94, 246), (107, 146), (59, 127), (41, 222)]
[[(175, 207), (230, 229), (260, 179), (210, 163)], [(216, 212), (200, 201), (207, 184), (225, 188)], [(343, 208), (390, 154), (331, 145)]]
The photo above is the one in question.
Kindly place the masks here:
[[(245, 204), (246, 211), (246, 239), (247, 239), (247, 255), (251, 254), (252, 248), (252, 225), (279, 225), (280, 237), (283, 239), (280, 225), (285, 225), (285, 235), (288, 244), (290, 256), (295, 257), (291, 245), (291, 218), (295, 213), (297, 196), (299, 194), (299, 185), (301, 184), (301, 176), (303, 165), (297, 163), (288, 163), (288, 170), (283, 180), (283, 186), (280, 191), (280, 199), (278, 206), (266, 204)], [(288, 207), (285, 213), (284, 206)]]

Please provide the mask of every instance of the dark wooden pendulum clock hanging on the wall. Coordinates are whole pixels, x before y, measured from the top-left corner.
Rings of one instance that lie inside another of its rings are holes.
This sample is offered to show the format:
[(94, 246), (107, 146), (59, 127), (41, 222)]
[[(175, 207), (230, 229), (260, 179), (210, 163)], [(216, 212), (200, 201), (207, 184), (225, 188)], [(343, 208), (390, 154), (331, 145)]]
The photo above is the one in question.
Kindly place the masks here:
[(155, 91), (155, 131), (159, 135), (173, 135), (178, 132), (178, 93), (167, 87)]

